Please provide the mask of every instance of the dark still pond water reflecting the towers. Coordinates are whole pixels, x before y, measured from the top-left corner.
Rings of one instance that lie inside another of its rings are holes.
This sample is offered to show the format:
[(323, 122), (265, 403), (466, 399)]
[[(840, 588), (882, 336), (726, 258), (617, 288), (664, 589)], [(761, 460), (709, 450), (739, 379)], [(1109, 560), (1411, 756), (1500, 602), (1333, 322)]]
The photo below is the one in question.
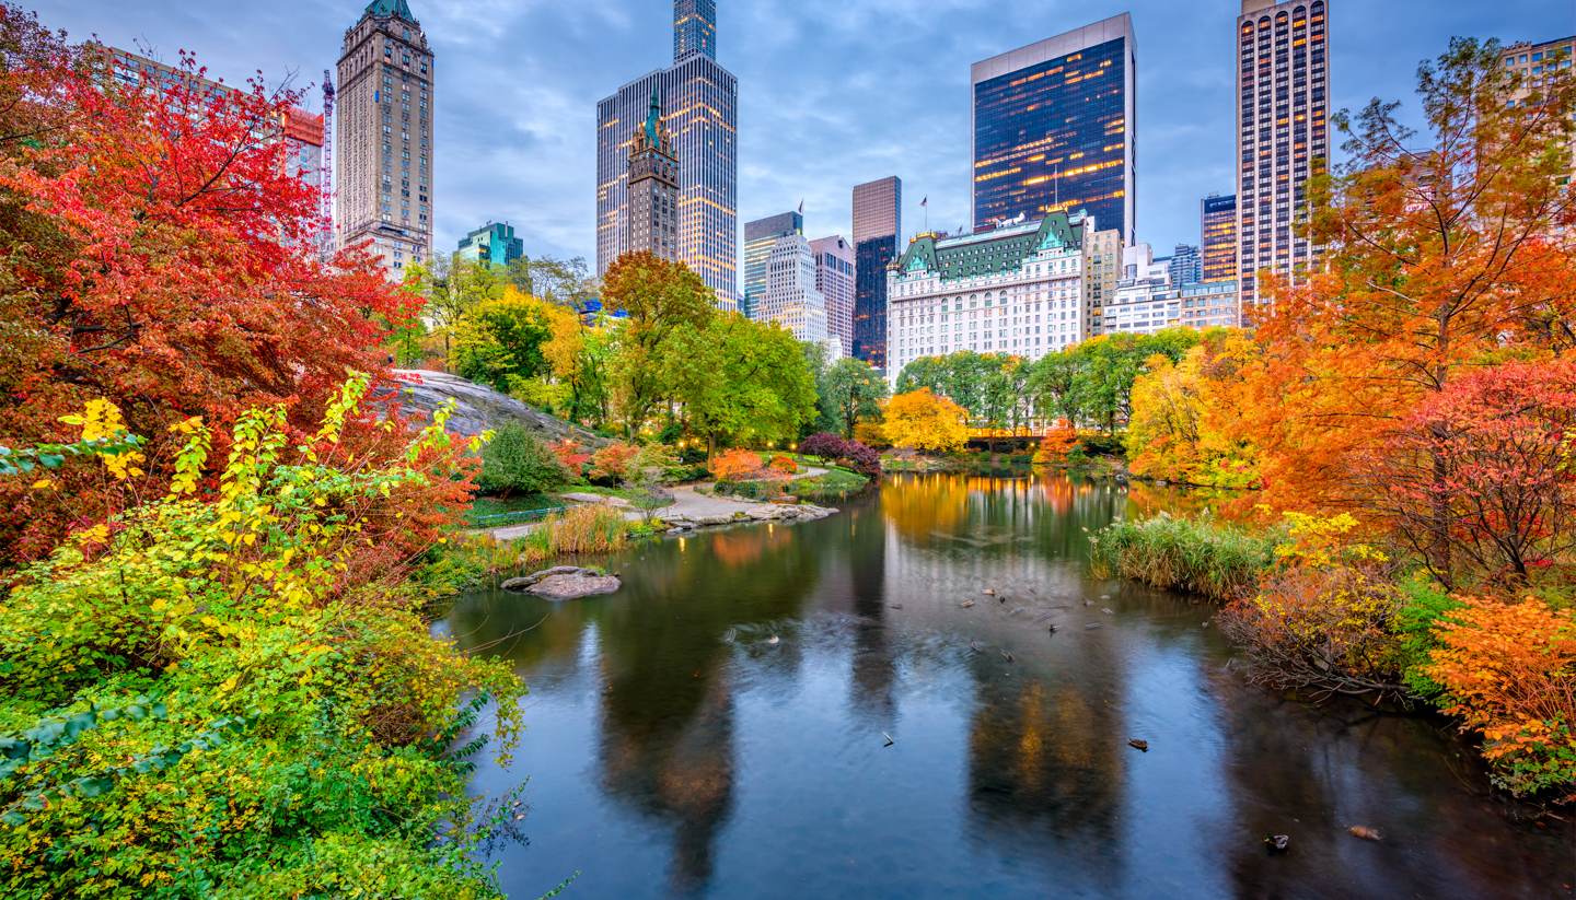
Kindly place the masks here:
[(473, 782), (530, 779), (503, 886), (1570, 895), (1570, 828), (1491, 796), (1445, 722), (1245, 684), (1209, 606), (1089, 576), (1086, 530), (1188, 502), (894, 477), (821, 522), (643, 544), (607, 563), (613, 596), (462, 596), (440, 631), (531, 689), (514, 763), (478, 760)]

